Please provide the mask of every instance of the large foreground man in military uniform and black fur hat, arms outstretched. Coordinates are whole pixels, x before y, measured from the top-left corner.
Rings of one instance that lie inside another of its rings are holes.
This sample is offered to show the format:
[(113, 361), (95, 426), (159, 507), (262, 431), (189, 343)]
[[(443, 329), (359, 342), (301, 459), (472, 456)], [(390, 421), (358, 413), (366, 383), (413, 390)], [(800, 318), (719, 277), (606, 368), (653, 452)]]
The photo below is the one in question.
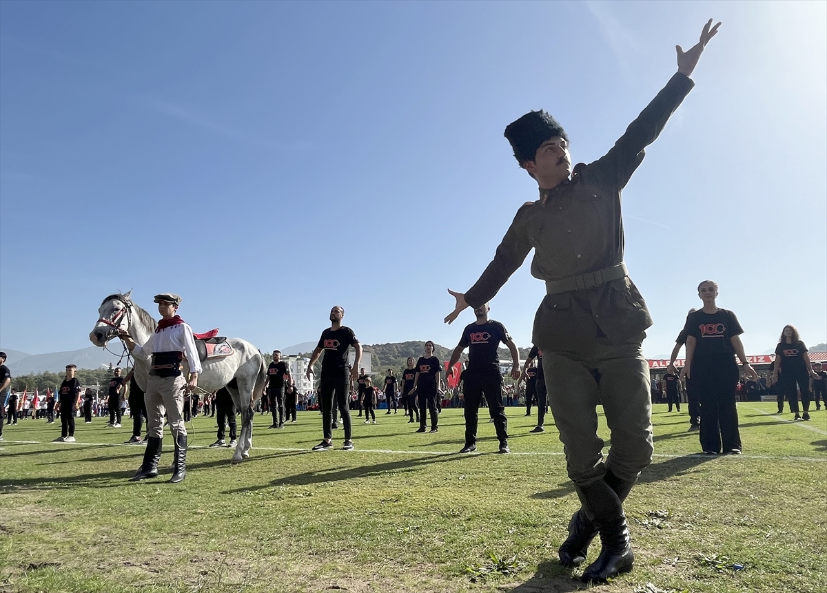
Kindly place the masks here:
[[(643, 149), (694, 86), (689, 76), (718, 27), (707, 22), (689, 51), (676, 46), (677, 73), (592, 164), (571, 167), (568, 136), (545, 111), (510, 124), (505, 137), (519, 166), (538, 183), (539, 199), (519, 209), (476, 284), (464, 294), (450, 291), (457, 303), (447, 323), (495, 297), (535, 249), (531, 271), (546, 282), (546, 297), (534, 319), (533, 343), (543, 350), (549, 404), (581, 500), (560, 560), (569, 566), (584, 562), (597, 533), (602, 544), (583, 581), (605, 581), (632, 569), (623, 501), (653, 453), (649, 369), (642, 352), (652, 318), (624, 265), (620, 194), (643, 161)], [(597, 435), (598, 397), (613, 429), (606, 459)]]

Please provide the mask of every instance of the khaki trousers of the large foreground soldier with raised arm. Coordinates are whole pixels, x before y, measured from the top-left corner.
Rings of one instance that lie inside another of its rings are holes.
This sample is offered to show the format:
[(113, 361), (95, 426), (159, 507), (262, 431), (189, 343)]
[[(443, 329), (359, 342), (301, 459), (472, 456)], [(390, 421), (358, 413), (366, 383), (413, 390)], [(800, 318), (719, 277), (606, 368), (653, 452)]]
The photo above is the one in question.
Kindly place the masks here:
[[(611, 469), (621, 480), (634, 481), (652, 463), (652, 402), (643, 337), (622, 344), (596, 337), (577, 351), (543, 350), (548, 405), (560, 431), (571, 481), (587, 486)], [(604, 460), (597, 435), (598, 396), (611, 431)]]

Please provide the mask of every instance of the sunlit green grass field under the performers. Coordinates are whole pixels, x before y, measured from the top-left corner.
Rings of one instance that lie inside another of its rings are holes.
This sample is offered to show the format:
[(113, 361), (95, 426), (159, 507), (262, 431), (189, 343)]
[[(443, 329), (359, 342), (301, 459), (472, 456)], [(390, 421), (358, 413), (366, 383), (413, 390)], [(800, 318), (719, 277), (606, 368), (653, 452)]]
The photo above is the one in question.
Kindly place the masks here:
[[(686, 411), (655, 406), (656, 457), (626, 504), (635, 569), (594, 587), (557, 564), (578, 503), (553, 425), (529, 434), (520, 408), (510, 455), (485, 420), (477, 453), (458, 455), (461, 410), (437, 434), (383, 411), (355, 420), (355, 451), (339, 429), (339, 450), (318, 453), (317, 412), (283, 430), (256, 415), (238, 466), (198, 417), (179, 485), (166, 470), (127, 482), (143, 453), (119, 444), (128, 421), (51, 444), (59, 423), (26, 420), (0, 443), (0, 591), (827, 591), (827, 412), (793, 424), (774, 409), (739, 404), (744, 454), (710, 458)], [(162, 466), (170, 449), (167, 434)]]

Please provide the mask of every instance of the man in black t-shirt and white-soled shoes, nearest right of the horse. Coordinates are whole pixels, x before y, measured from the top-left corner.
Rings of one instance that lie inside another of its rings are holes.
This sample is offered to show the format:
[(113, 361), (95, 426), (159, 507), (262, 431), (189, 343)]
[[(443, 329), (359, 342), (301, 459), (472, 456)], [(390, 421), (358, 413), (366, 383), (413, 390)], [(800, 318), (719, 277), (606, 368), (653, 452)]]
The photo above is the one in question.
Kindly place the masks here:
[[(334, 306), (330, 311), (330, 329), (322, 332), (318, 345), (313, 350), (308, 364), (307, 377), (313, 374), (313, 365), (324, 352), (322, 359), (322, 377), (319, 380), (319, 403), (322, 406), (322, 429), (324, 438), (321, 443), (313, 447), (314, 451), (332, 448), (332, 408), (334, 396), (339, 412), (342, 415), (342, 425), (345, 429), (344, 449), (353, 448), (351, 439), (351, 412), (348, 408), (350, 398), (350, 383), (355, 380), (361, 362), (361, 344), (356, 334), (349, 327), (342, 325), (345, 310), (341, 306)], [(350, 372), (347, 372), (347, 349), (353, 346), (356, 356)]]

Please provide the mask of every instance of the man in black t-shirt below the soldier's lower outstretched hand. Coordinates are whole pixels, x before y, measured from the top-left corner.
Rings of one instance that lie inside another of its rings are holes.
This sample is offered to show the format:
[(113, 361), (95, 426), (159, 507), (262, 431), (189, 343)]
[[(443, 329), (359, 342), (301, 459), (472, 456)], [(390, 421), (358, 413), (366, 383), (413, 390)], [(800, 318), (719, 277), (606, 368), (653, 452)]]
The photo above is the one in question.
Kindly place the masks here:
[(511, 377), (519, 379), (519, 353), (514, 340), (500, 321), (489, 320), (488, 303), (476, 307), (476, 321), (466, 325), (457, 348), (448, 361), (448, 377), (453, 372), (454, 364), (460, 359), (462, 351), (468, 349), (468, 365), (462, 372), (462, 391), (465, 394), (466, 442), (460, 453), (476, 451), (476, 428), (480, 410), (480, 401), (485, 396), (488, 412), (500, 441), (499, 453), (510, 453), (509, 420), (503, 406), (503, 377), (500, 375), (500, 342), (511, 353)]

